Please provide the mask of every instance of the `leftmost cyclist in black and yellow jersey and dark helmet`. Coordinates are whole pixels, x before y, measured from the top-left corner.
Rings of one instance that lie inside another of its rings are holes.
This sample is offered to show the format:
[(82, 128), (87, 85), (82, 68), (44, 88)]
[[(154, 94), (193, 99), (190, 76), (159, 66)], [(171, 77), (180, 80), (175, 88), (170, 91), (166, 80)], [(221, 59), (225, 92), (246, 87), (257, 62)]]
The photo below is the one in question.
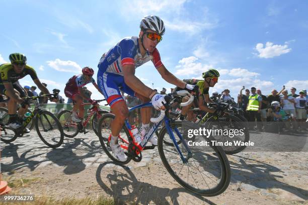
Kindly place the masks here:
[[(21, 53), (12, 53), (9, 56), (11, 63), (0, 65), (0, 94), (5, 94), (9, 97), (9, 126), (13, 129), (21, 127), (19, 117), (24, 116), (28, 109), (27, 102), (22, 97), (28, 96), (27, 92), (19, 84), (19, 79), (30, 75), (34, 83), (45, 94), (49, 94), (48, 89), (38, 79), (35, 70), (27, 64), (27, 57)], [(17, 104), (21, 104), (22, 108), (16, 115)]]

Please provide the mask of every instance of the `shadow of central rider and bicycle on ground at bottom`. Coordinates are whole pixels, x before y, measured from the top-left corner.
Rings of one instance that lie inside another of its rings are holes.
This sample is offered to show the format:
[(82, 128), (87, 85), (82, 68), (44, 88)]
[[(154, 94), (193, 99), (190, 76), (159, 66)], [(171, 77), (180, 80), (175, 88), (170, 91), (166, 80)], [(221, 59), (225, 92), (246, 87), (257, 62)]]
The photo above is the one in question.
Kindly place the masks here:
[(102, 189), (114, 198), (116, 204), (127, 201), (141, 204), (150, 204), (151, 201), (155, 204), (180, 204), (177, 198), (181, 192), (189, 193), (208, 204), (215, 204), (203, 196), (194, 194), (182, 187), (170, 189), (140, 182), (127, 166), (118, 165), (122, 169), (118, 168), (117, 170), (107, 169), (109, 165), (113, 164), (113, 162), (101, 164), (96, 171), (96, 180)]

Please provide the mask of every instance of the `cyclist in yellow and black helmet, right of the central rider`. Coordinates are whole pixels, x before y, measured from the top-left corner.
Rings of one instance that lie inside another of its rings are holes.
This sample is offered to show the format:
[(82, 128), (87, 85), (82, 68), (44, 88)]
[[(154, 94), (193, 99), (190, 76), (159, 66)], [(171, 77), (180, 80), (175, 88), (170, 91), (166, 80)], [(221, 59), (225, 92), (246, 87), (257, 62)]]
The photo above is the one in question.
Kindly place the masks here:
[[(208, 94), (208, 90), (210, 87), (214, 87), (215, 84), (218, 82), (218, 77), (219, 77), (219, 72), (215, 69), (209, 69), (207, 71), (205, 71), (204, 73), (202, 73), (202, 78), (204, 78), (204, 80), (198, 81), (197, 85), (199, 87), (199, 97), (198, 97), (198, 106), (199, 108), (204, 111), (204, 112), (209, 112), (209, 113), (214, 113), (215, 110), (208, 108), (206, 106), (206, 104), (204, 103), (213, 103), (214, 101), (212, 101), (209, 97)], [(188, 99), (185, 98), (184, 101), (187, 101)], [(184, 116), (187, 114), (187, 120), (191, 121), (193, 118), (193, 112), (189, 111), (189, 109), (191, 108), (192, 104), (185, 106), (182, 108), (181, 111), (181, 117), (180, 119), (183, 120)]]

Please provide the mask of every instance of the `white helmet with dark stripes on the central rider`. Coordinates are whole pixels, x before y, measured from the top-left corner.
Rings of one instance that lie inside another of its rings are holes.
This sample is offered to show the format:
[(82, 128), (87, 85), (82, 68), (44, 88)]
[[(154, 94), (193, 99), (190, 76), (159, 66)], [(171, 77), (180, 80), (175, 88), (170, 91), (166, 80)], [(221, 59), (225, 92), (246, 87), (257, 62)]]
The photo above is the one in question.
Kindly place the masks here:
[(141, 19), (140, 22), (141, 30), (152, 30), (157, 32), (160, 35), (164, 35), (165, 33), (165, 24), (161, 18), (158, 16), (146, 16)]

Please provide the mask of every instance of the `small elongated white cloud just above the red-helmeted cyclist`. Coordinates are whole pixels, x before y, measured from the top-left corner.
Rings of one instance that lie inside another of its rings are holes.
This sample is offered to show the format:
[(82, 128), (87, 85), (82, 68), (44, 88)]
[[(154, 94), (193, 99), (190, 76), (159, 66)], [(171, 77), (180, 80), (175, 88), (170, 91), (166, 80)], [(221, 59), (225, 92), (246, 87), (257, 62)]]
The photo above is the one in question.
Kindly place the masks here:
[(62, 61), (62, 60), (57, 58), (53, 61), (52, 60), (47, 61), (47, 63), (53, 69), (58, 70), (58, 71), (62, 71), (62, 72), (80, 73), (81, 70), (82, 70), (82, 68), (80, 67), (79, 64), (77, 64), (74, 61), (70, 61), (70, 60)]

